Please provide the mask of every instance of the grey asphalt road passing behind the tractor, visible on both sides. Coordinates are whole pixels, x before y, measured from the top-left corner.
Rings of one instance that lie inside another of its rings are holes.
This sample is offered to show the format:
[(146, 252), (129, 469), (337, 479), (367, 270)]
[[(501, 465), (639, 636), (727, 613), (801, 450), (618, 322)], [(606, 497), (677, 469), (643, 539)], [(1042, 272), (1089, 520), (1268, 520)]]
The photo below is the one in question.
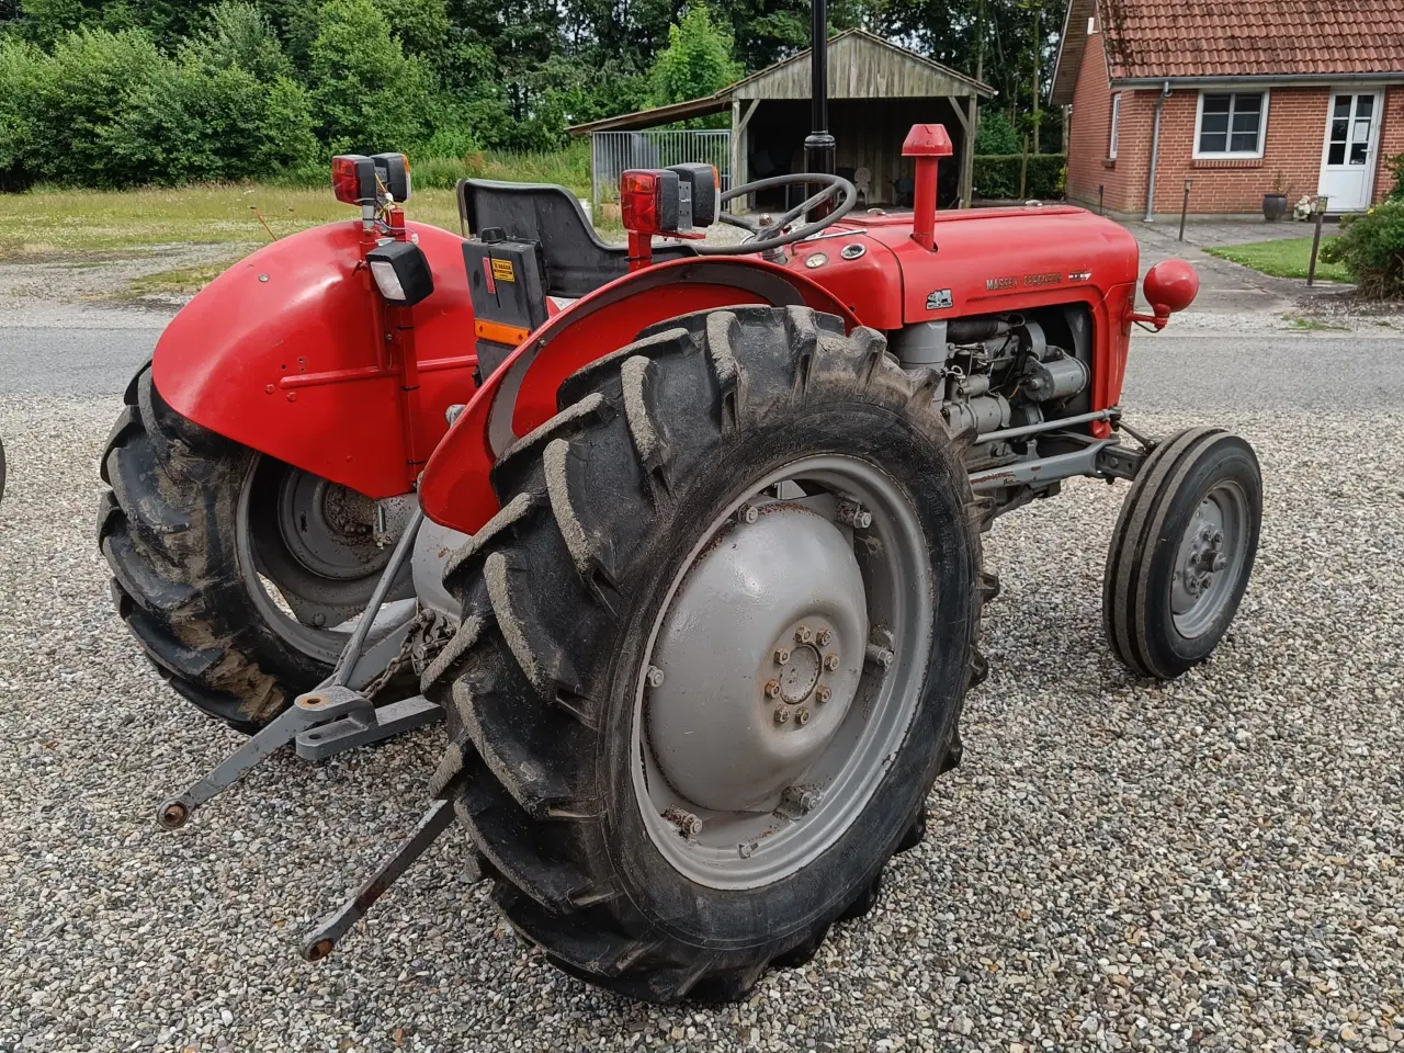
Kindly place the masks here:
[[(77, 324), (0, 327), (0, 395), (118, 393), (150, 357), (160, 314), (83, 312)], [(1404, 334), (1134, 333), (1123, 404), (1144, 410), (1341, 410), (1404, 404)]]

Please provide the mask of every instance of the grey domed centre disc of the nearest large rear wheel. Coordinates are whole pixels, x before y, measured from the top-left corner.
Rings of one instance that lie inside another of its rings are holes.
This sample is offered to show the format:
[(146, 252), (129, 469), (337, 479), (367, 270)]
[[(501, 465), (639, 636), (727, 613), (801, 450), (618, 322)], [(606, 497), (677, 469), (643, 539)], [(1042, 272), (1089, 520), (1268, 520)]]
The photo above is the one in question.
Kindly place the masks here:
[(838, 526), (779, 503), (731, 524), (653, 649), (647, 734), (664, 778), (701, 809), (774, 809), (844, 723), (866, 639), (863, 577)]

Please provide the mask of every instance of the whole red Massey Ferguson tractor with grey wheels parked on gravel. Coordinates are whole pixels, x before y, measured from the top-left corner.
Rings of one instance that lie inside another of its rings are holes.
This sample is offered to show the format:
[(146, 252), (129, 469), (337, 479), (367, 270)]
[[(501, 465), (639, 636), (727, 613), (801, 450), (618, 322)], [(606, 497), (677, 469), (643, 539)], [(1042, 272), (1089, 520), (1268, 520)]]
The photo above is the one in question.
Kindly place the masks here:
[[(446, 720), (432, 806), (306, 958), (456, 816), (463, 866), (591, 983), (726, 1000), (807, 960), (960, 761), (981, 532), (1064, 479), (1132, 483), (1112, 650), (1170, 678), (1223, 637), (1252, 449), (1118, 409), (1132, 326), (1186, 307), (1193, 270), (1153, 267), (1139, 313), (1112, 222), (938, 215), (938, 125), (904, 146), (914, 209), (855, 212), (813, 55), (810, 171), (625, 173), (628, 249), (559, 187), (466, 180), (470, 237), (411, 223), (402, 156), (338, 157), (361, 219), (230, 268), (128, 389), (98, 526), (118, 611), (254, 733), (161, 826), (285, 744)], [(720, 211), (788, 184), (813, 192), (771, 223)], [(713, 220), (750, 239), (695, 240)]]

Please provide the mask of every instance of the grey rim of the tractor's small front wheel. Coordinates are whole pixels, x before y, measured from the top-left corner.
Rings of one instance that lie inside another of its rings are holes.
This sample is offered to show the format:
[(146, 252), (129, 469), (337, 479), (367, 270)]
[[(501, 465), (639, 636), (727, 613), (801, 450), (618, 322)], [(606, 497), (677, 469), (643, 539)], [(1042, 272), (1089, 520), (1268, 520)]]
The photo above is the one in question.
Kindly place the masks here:
[(1185, 639), (1209, 632), (1233, 602), (1248, 557), (1248, 496), (1237, 483), (1214, 484), (1195, 508), (1175, 553), (1170, 608)]

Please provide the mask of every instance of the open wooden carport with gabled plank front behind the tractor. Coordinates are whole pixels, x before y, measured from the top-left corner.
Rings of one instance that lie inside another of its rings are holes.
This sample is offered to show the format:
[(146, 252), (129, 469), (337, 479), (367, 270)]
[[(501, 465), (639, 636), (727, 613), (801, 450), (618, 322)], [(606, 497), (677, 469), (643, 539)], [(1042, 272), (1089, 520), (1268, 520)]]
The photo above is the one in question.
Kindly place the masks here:
[[(705, 114), (731, 112), (731, 184), (804, 170), (810, 100), (809, 49), (768, 66), (715, 95), (576, 125), (574, 135), (637, 131)], [(942, 208), (970, 204), (974, 135), (981, 98), (994, 88), (865, 29), (828, 41), (828, 131), (835, 168), (866, 174), (865, 205), (910, 205), (914, 176), (901, 143), (914, 124), (942, 124), (959, 163), (942, 163)], [(778, 201), (755, 202), (772, 208)]]

